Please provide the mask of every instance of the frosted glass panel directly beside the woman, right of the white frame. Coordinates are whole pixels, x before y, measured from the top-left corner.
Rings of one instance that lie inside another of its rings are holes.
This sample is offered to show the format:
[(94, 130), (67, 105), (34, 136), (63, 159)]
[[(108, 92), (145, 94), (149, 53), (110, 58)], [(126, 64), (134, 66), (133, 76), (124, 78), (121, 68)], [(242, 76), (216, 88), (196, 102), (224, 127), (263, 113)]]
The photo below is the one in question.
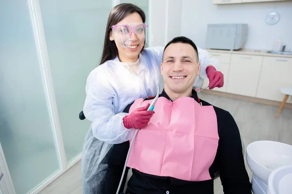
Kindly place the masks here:
[(40, 0), (67, 162), (82, 151), (86, 79), (100, 62), (112, 0)]

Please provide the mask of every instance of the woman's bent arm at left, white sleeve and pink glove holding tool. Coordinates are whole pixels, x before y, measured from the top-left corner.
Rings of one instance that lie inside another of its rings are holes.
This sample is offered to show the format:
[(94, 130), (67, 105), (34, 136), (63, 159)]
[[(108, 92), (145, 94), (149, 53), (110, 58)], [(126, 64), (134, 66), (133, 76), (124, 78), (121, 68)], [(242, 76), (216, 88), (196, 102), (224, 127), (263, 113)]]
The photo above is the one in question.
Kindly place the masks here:
[(92, 133), (100, 141), (121, 144), (133, 137), (135, 131), (132, 129), (145, 127), (154, 112), (147, 111), (146, 106), (130, 114), (118, 113), (113, 105), (114, 97), (111, 84), (101, 72), (89, 75), (83, 113), (92, 122)]

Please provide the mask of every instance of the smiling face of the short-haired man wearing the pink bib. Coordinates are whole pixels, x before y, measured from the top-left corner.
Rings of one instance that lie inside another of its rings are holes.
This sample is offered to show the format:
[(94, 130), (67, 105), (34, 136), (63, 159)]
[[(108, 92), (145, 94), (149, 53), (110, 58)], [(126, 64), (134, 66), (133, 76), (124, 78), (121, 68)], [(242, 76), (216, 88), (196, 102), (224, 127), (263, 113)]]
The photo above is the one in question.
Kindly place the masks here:
[(176, 95), (191, 93), (200, 69), (198, 54), (191, 45), (170, 44), (164, 51), (161, 64), (165, 92)]

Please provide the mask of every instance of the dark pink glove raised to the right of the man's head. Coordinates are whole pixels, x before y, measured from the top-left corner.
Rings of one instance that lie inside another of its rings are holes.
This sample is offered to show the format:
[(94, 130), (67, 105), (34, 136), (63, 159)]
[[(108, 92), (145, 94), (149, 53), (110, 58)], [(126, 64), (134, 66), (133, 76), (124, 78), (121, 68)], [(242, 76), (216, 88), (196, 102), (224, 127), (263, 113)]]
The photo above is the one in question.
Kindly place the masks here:
[(207, 66), (206, 73), (209, 78), (209, 89), (212, 90), (215, 87), (223, 87), (224, 79), (223, 74), (217, 71), (214, 66)]

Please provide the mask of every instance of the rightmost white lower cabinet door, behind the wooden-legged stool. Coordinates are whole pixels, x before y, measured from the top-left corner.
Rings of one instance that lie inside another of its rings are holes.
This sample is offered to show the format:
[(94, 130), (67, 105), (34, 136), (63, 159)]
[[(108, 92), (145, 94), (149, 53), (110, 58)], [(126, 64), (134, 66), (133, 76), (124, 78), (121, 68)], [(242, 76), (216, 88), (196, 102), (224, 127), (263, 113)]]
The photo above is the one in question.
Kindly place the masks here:
[[(268, 57), (263, 59), (256, 97), (282, 101), (282, 87), (292, 87), (292, 58)], [(288, 99), (290, 100), (290, 99)]]

